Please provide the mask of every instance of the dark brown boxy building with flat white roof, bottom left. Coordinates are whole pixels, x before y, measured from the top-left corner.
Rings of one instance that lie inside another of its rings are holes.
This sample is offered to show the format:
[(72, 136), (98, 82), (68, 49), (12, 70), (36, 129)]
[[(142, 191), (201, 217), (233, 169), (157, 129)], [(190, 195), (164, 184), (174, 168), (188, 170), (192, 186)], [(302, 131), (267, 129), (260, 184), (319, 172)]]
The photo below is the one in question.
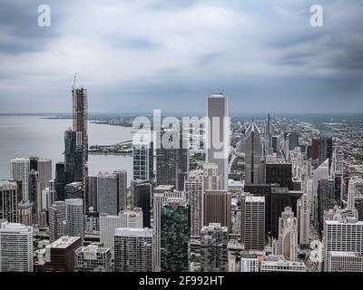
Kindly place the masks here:
[(47, 272), (74, 272), (75, 251), (82, 247), (81, 237), (60, 237), (45, 247), (45, 268)]

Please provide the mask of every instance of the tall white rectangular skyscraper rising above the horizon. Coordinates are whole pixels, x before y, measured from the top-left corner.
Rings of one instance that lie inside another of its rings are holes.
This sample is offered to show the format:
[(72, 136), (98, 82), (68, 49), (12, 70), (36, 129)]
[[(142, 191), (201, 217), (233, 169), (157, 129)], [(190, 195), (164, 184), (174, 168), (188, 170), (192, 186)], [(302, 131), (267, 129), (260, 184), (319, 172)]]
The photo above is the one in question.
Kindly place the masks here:
[(230, 151), (230, 121), (228, 99), (222, 93), (212, 93), (206, 100), (207, 140), (206, 161), (218, 165), (221, 189), (228, 189), (228, 157)]

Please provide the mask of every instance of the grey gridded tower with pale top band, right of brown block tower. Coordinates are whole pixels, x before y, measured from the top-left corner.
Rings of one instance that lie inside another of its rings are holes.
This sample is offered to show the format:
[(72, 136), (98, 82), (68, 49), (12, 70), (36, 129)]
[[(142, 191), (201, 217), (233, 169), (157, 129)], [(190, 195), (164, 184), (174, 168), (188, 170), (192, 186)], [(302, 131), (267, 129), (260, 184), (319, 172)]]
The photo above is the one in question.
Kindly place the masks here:
[(245, 250), (263, 250), (265, 248), (265, 198), (242, 194), (240, 217), (240, 241)]

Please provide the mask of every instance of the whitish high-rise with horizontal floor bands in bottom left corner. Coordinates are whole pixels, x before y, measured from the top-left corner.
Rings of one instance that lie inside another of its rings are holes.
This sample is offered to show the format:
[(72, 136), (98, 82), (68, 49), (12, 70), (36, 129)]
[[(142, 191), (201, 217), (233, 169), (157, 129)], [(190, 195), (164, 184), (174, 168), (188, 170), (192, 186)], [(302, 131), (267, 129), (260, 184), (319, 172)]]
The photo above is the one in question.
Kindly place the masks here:
[(1, 224), (0, 272), (33, 272), (33, 227)]

